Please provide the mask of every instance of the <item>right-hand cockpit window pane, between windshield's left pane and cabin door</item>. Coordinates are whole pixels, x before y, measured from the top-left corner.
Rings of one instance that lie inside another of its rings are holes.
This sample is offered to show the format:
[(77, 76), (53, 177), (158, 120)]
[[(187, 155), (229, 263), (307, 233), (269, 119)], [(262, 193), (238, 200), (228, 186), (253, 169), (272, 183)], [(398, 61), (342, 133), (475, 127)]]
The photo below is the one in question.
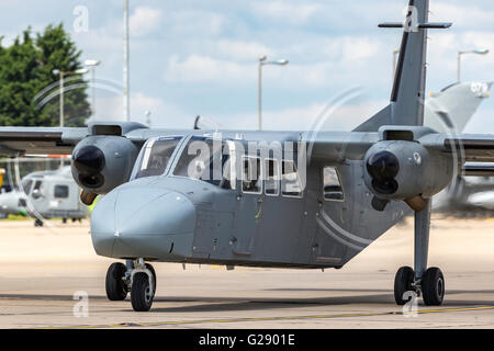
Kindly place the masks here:
[(210, 137), (192, 137), (182, 150), (173, 176), (201, 180), (223, 189), (232, 189), (229, 154), (226, 143)]

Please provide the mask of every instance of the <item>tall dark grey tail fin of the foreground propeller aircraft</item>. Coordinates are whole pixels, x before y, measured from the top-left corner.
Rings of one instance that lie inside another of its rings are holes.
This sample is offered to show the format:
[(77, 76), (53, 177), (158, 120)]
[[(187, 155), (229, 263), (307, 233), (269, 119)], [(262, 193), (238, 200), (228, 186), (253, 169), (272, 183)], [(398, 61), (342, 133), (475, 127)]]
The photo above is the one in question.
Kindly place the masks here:
[(382, 125), (423, 125), (427, 30), (451, 26), (450, 23), (428, 23), (428, 14), (429, 0), (409, 0), (404, 23), (379, 25), (404, 29), (391, 103), (357, 127), (356, 132), (375, 132)]

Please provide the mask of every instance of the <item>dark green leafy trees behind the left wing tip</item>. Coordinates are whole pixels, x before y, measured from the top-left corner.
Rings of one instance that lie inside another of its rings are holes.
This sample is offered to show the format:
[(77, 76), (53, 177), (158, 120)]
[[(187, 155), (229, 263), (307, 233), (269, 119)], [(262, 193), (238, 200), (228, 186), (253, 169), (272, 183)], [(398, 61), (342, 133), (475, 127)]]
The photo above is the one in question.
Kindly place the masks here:
[[(82, 52), (63, 24), (50, 24), (42, 33), (29, 27), (10, 46), (0, 36), (0, 126), (58, 126), (59, 75), (54, 70), (82, 68)], [(81, 75), (69, 77), (67, 87), (87, 83)], [(65, 126), (85, 125), (91, 115), (86, 87), (66, 90), (64, 115)]]

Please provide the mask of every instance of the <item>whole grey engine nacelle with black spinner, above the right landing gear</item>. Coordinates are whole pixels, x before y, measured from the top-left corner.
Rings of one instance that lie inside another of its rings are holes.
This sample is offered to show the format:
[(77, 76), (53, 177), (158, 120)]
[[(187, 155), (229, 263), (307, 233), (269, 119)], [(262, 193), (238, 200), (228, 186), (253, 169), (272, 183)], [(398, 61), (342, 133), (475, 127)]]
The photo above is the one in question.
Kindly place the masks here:
[(367, 151), (364, 181), (378, 199), (406, 201), (414, 208), (413, 199), (431, 197), (451, 182), (453, 163), (451, 156), (419, 143), (384, 140)]

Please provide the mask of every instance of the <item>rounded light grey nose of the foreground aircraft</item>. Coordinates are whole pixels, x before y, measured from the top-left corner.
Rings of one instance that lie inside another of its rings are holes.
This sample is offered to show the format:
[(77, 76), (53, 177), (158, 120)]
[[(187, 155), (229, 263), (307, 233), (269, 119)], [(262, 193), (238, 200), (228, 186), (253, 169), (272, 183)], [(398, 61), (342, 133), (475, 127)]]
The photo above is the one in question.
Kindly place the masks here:
[(194, 229), (193, 204), (165, 189), (117, 188), (99, 201), (91, 215), (94, 250), (112, 258), (189, 254)]

